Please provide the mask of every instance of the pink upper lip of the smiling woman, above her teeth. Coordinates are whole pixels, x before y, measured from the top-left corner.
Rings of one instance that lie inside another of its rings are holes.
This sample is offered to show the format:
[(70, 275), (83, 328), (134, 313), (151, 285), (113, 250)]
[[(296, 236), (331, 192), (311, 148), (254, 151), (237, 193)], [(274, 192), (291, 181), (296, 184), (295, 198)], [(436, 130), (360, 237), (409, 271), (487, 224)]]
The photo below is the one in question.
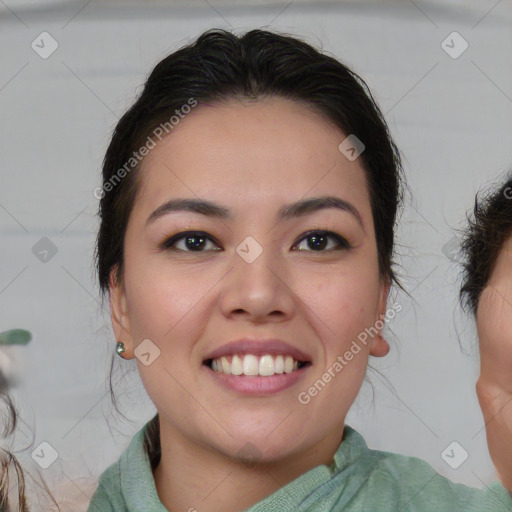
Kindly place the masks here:
[(227, 356), (231, 354), (254, 354), (256, 356), (270, 355), (290, 355), (297, 361), (309, 362), (311, 356), (302, 350), (290, 345), (286, 341), (276, 338), (256, 340), (243, 338), (240, 340), (231, 341), (216, 348), (210, 352), (206, 357), (208, 359), (217, 359), (218, 357)]

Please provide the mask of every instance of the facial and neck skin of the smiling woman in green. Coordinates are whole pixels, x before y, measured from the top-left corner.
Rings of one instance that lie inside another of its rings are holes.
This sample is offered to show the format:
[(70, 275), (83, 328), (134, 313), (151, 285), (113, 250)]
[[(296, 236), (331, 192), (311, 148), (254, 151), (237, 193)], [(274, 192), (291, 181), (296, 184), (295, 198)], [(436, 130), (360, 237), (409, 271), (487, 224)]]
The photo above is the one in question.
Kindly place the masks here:
[[(386, 312), (389, 284), (379, 273), (366, 176), (359, 158), (350, 161), (338, 149), (345, 138), (304, 105), (232, 100), (198, 106), (143, 161), (122, 282), (111, 275), (111, 315), (127, 357), (145, 339), (160, 350), (149, 366), (137, 365), (160, 415), (162, 459), (154, 476), (171, 510), (241, 510), (328, 464), (369, 355), (389, 351), (379, 331), (307, 405), (298, 401)], [(283, 205), (324, 195), (350, 202), (361, 224), (334, 208), (276, 220)], [(233, 218), (175, 212), (146, 225), (174, 198), (213, 201)], [(311, 248), (304, 235), (315, 229), (338, 234), (351, 248), (339, 249), (330, 237), (324, 249)], [(161, 248), (196, 230), (211, 237), (203, 252), (184, 239), (175, 244), (181, 252)], [(262, 248), (252, 263), (236, 252), (247, 237)], [(280, 338), (309, 354), (312, 365), (274, 395), (224, 389), (203, 359), (242, 337)], [(257, 453), (250, 466), (240, 455), (247, 446)]]

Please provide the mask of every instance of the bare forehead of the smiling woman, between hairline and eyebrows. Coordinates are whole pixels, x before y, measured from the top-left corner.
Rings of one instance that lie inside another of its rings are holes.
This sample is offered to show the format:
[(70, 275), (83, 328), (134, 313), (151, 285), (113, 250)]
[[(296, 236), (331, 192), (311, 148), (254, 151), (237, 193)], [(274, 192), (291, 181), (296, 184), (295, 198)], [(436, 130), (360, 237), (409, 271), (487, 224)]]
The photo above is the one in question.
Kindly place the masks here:
[(369, 212), (362, 162), (338, 149), (346, 136), (311, 108), (282, 98), (197, 106), (145, 157), (139, 208), (185, 195), (238, 203), (240, 211), (251, 203), (277, 210), (329, 193)]

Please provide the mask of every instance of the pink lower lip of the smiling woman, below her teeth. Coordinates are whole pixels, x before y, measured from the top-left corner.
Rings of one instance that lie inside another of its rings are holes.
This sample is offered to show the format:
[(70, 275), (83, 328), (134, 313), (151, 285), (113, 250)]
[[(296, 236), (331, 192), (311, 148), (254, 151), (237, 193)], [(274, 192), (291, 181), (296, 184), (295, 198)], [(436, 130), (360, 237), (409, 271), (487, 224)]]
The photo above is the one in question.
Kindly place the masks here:
[(292, 373), (275, 374), (270, 377), (259, 375), (228, 375), (216, 372), (209, 366), (203, 368), (222, 386), (246, 395), (274, 395), (297, 384), (311, 365), (303, 366)]

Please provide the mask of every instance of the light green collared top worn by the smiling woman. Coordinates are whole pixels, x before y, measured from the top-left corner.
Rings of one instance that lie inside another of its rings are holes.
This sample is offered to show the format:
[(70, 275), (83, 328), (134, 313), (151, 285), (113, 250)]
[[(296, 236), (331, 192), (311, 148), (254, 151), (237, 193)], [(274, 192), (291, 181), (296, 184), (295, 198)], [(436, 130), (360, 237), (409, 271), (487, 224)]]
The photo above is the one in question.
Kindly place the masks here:
[[(101, 474), (87, 512), (168, 512), (144, 450), (146, 426)], [(499, 482), (485, 489), (457, 484), (416, 457), (371, 450), (345, 425), (330, 465), (312, 468), (245, 512), (292, 511), (512, 512), (512, 493)]]

